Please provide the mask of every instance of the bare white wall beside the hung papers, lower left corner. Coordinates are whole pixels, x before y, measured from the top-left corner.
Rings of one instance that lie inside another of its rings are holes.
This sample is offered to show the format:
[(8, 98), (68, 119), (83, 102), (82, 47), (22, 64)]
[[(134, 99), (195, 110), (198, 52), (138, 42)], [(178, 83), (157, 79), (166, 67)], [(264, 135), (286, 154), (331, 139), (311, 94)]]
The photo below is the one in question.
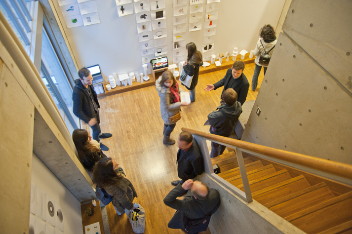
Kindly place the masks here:
[(32, 157), (32, 183), (61, 205), (64, 233), (83, 234), (80, 202), (35, 154)]

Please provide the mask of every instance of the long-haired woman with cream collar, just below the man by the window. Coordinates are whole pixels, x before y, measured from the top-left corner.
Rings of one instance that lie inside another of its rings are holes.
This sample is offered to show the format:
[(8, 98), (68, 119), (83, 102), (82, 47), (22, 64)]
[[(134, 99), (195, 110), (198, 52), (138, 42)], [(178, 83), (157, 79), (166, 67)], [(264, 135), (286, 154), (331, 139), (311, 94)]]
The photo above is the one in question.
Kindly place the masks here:
[(99, 148), (99, 142), (92, 139), (89, 132), (84, 129), (75, 129), (72, 133), (72, 139), (75, 143), (80, 163), (82, 163), (84, 169), (91, 173), (95, 163), (106, 157)]

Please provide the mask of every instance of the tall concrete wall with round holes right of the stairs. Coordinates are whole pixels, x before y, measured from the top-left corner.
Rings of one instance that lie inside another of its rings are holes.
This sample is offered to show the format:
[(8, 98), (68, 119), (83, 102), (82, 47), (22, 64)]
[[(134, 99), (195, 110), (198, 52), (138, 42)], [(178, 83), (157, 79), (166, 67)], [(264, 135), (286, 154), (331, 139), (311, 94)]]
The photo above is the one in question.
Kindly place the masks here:
[(292, 0), (242, 140), (352, 164), (350, 22), (349, 0)]

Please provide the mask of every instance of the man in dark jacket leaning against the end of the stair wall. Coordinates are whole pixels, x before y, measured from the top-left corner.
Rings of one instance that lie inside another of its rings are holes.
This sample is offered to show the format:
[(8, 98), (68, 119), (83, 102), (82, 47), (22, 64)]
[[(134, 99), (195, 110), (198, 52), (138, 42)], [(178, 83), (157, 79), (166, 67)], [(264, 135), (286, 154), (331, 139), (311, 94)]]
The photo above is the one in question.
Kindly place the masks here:
[(177, 152), (177, 172), (178, 177), (182, 180), (172, 181), (171, 184), (176, 186), (188, 179), (194, 179), (197, 175), (203, 173), (203, 158), (200, 155), (198, 144), (189, 132), (181, 132), (178, 139)]

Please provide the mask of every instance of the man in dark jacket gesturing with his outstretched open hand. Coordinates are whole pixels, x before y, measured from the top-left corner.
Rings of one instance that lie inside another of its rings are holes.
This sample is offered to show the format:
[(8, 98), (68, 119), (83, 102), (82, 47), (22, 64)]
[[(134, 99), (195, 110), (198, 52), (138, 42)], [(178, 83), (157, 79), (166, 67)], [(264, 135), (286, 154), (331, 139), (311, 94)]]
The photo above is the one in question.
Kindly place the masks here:
[(207, 87), (204, 90), (211, 91), (224, 86), (223, 92), (221, 93), (222, 98), (225, 90), (227, 90), (228, 88), (233, 88), (238, 95), (238, 102), (243, 105), (243, 103), (246, 101), (249, 89), (248, 80), (246, 76), (242, 73), (243, 70), (244, 62), (236, 61), (232, 66), (232, 69), (229, 68), (229, 70), (227, 70), (224, 78), (220, 79), (215, 84), (207, 84)]

